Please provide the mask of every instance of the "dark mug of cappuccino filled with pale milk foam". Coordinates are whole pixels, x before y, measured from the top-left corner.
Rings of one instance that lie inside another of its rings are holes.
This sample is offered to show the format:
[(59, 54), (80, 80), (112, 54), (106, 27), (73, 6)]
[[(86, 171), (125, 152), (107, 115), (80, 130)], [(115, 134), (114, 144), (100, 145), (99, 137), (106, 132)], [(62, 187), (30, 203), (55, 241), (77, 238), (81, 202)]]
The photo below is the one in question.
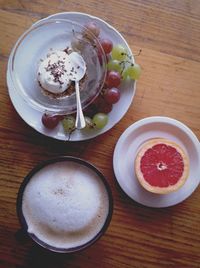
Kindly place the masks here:
[(33, 168), (17, 197), (23, 230), (40, 246), (60, 253), (96, 242), (112, 211), (112, 193), (102, 173), (74, 157), (50, 159)]

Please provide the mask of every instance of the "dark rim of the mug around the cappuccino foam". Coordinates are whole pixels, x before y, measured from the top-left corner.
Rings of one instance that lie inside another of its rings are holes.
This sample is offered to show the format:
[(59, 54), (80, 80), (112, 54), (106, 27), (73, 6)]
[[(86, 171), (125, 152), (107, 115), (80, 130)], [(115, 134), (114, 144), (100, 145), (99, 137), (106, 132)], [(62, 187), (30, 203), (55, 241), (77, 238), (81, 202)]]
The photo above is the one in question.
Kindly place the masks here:
[[(84, 244), (82, 244), (80, 246), (76, 246), (76, 247), (71, 247), (71, 248), (57, 248), (57, 247), (51, 246), (51, 245), (43, 242), (36, 235), (28, 232), (28, 225), (26, 223), (25, 217), (24, 217), (23, 212), (22, 212), (22, 199), (23, 199), (23, 193), (24, 193), (24, 190), (26, 188), (26, 185), (28, 184), (28, 182), (31, 180), (31, 178), (38, 171), (40, 171), (44, 167), (46, 167), (48, 165), (51, 165), (53, 163), (65, 162), (65, 161), (76, 162), (76, 163), (78, 163), (80, 165), (86, 166), (87, 168), (91, 169), (92, 171), (94, 171), (98, 175), (98, 177), (103, 182), (103, 184), (105, 186), (105, 189), (106, 189), (106, 192), (108, 194), (109, 208), (108, 208), (108, 215), (106, 217), (106, 220), (105, 220), (105, 222), (104, 222), (101, 230), (91, 240), (89, 240), (88, 242), (86, 242), (86, 243), (84, 243)], [(19, 187), (19, 190), (18, 190), (18, 194), (17, 194), (16, 210), (17, 210), (17, 216), (18, 216), (20, 225), (22, 227), (22, 230), (36, 244), (42, 246), (43, 248), (45, 248), (45, 249), (47, 249), (49, 251), (53, 251), (53, 252), (57, 252), (57, 253), (73, 253), (73, 252), (82, 251), (82, 250), (88, 248), (89, 246), (93, 245), (106, 232), (106, 230), (107, 230), (107, 228), (108, 228), (108, 226), (109, 226), (109, 224), (111, 222), (112, 214), (113, 214), (113, 196), (112, 196), (111, 187), (110, 187), (110, 185), (109, 185), (106, 177), (93, 164), (91, 164), (90, 162), (88, 162), (88, 161), (86, 161), (86, 160), (84, 160), (82, 158), (78, 158), (78, 157), (74, 157), (74, 156), (58, 156), (58, 157), (47, 159), (47, 160), (44, 160), (44, 161), (40, 162), (35, 167), (33, 167), (30, 170), (30, 172), (24, 177), (24, 180), (20, 184), (20, 187)]]

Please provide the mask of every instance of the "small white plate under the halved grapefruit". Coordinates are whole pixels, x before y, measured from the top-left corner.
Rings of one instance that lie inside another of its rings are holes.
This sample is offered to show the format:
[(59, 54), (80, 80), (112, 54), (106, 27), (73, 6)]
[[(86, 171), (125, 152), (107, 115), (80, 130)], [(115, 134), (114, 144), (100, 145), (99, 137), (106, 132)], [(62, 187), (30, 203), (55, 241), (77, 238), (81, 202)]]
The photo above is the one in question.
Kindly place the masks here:
[[(138, 148), (145, 141), (162, 137), (180, 144), (190, 160), (190, 174), (177, 192), (157, 195), (142, 188), (134, 172), (134, 159)], [(129, 128), (119, 138), (113, 156), (116, 179), (122, 190), (136, 202), (149, 207), (176, 205), (198, 187), (200, 182), (200, 143), (195, 134), (183, 123), (168, 117), (149, 117)]]

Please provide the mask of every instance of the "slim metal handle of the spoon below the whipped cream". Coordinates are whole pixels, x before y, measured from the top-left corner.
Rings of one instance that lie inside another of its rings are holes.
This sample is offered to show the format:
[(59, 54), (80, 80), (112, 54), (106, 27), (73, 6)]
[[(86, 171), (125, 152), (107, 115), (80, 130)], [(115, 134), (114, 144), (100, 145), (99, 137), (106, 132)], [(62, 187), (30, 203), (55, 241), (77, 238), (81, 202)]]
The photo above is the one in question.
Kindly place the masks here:
[(82, 129), (86, 126), (86, 123), (81, 106), (79, 81), (75, 81), (75, 89), (76, 89), (76, 105), (77, 105), (75, 127), (77, 129)]

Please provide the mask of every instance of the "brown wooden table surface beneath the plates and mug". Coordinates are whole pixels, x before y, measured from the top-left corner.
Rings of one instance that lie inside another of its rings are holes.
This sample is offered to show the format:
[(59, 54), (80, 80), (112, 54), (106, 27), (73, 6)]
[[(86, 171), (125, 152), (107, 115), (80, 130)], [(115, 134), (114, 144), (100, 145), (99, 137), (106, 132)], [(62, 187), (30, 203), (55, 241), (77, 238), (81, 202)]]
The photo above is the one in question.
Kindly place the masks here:
[[(7, 60), (17, 38), (36, 20), (62, 11), (98, 16), (117, 28), (142, 54), (142, 76), (125, 117), (92, 140), (63, 143), (37, 133), (14, 110), (6, 85)], [(137, 204), (117, 186), (112, 169), (115, 144), (137, 120), (154, 115), (182, 121), (200, 138), (200, 2), (0, 1), (0, 267), (200, 267), (200, 191), (174, 207)], [(16, 196), (23, 177), (42, 160), (81, 157), (108, 178), (114, 214), (106, 234), (72, 255), (49, 254), (19, 241)]]

